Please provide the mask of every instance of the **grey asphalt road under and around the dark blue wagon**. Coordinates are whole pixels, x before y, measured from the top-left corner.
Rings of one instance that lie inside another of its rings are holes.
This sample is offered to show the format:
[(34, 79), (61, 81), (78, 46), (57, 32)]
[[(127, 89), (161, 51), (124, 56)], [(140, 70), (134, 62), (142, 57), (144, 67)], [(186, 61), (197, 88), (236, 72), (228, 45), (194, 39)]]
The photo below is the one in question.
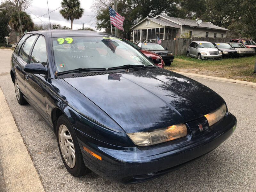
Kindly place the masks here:
[(124, 185), (93, 172), (75, 178), (66, 171), (54, 133), (36, 110), (16, 100), (9, 75), (11, 54), (0, 50), (0, 86), (45, 191), (256, 191), (256, 87), (193, 77), (224, 98), (237, 118), (236, 131), (218, 148), (179, 170)]

